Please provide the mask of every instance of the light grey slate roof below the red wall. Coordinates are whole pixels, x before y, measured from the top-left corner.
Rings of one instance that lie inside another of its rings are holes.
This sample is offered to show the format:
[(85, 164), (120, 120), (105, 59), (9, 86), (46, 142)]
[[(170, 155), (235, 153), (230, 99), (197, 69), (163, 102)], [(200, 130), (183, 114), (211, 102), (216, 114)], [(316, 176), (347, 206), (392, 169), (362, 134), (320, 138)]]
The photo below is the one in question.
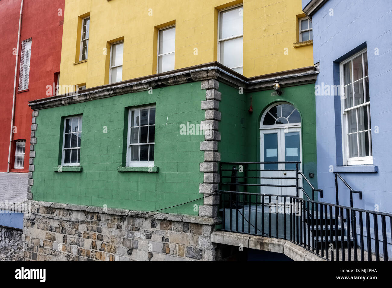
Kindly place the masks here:
[(27, 200), (27, 173), (0, 172), (0, 203), (22, 203)]

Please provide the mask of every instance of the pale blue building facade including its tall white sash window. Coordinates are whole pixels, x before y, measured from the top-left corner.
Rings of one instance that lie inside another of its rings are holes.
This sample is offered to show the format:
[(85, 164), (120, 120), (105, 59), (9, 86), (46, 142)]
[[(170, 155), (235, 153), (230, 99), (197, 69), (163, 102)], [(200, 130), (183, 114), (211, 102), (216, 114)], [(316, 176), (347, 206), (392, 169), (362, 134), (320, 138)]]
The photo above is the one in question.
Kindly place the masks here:
[[(362, 200), (354, 194), (354, 207), (391, 213), (392, 1), (302, 4), (312, 20), (314, 63), (320, 71), (315, 97), (322, 201), (336, 203), (333, 172), (338, 172), (362, 191)], [(350, 206), (348, 189), (340, 180), (338, 187), (339, 204)]]

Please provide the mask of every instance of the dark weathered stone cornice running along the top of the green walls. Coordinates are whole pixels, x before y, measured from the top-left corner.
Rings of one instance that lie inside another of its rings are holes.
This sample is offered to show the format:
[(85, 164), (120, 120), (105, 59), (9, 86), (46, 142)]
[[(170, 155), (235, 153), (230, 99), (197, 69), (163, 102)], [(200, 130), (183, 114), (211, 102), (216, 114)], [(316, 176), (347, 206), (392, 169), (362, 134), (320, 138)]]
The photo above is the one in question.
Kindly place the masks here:
[(188, 82), (215, 79), (232, 87), (243, 87), (246, 92), (272, 89), (274, 81), (278, 80), (281, 87), (315, 83), (318, 69), (314, 66), (277, 72), (247, 78), (223, 66), (218, 62), (210, 62), (170, 72), (149, 75), (123, 82), (93, 87), (83, 90), (77, 95), (56, 95), (49, 98), (29, 101), (33, 110), (47, 109), (74, 103), (81, 103), (94, 99), (123, 95), (140, 91), (178, 85)]

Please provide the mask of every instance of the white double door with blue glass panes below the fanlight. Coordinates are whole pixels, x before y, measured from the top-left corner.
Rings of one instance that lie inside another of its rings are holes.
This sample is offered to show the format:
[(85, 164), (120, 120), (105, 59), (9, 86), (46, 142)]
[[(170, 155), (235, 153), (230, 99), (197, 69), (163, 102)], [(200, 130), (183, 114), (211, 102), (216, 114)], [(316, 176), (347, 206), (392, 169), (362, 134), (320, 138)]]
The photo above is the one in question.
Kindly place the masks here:
[[(284, 162), (284, 161), (302, 161), (302, 139), (301, 127), (284, 127), (279, 129), (260, 130), (261, 140), (261, 162)], [(298, 165), (299, 171), (302, 169), (302, 163)], [(269, 185), (296, 185), (295, 163), (271, 163), (261, 164), (261, 184)], [(291, 179), (290, 179), (291, 178)], [(299, 186), (302, 187), (302, 177), (299, 175)], [(263, 194), (277, 194), (296, 196), (295, 187), (265, 187), (261, 186)], [(302, 191), (299, 190), (299, 197), (302, 197)], [(266, 199), (267, 200), (267, 199)], [(286, 200), (287, 201), (287, 200)]]

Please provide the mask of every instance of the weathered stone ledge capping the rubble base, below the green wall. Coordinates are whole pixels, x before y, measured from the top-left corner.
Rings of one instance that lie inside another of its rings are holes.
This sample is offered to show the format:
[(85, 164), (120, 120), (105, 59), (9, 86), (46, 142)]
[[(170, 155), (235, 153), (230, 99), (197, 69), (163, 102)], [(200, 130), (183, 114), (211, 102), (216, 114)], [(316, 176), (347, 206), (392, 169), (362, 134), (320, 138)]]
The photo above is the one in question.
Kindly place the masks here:
[[(131, 216), (134, 214), (139, 214), (134, 217), (141, 218), (154, 218), (158, 220), (169, 220), (169, 221), (178, 221), (178, 222), (188, 222), (188, 223), (197, 223), (203, 225), (216, 225), (220, 224), (221, 220), (219, 217), (201, 217), (195, 215), (184, 215), (184, 214), (172, 214), (172, 213), (163, 213), (163, 212), (145, 212), (145, 211), (135, 211), (135, 210), (127, 210), (127, 209), (117, 209), (117, 208), (103, 208), (98, 206), (88, 206), (88, 205), (77, 205), (77, 204), (64, 204), (64, 203), (56, 203), (56, 202), (44, 202), (44, 201), (29, 201), (31, 203), (31, 208), (34, 211), (34, 205), (43, 206), (43, 207), (51, 207), (56, 209), (67, 209), (67, 210), (75, 210), (75, 211), (86, 211), (86, 212), (94, 212), (100, 214), (107, 214), (107, 219), (112, 218), (110, 215), (118, 215), (118, 216)], [(105, 211), (104, 211), (105, 209)], [(34, 215), (34, 214), (33, 214)], [(54, 217), (60, 217), (65, 219), (66, 217), (53, 215)], [(31, 217), (31, 216), (25, 216)], [(27, 219), (25, 218), (25, 219)], [(104, 220), (105, 217), (101, 217), (101, 220)], [(81, 220), (86, 221), (89, 219), (69, 219), (69, 220)], [(91, 220), (96, 221), (96, 220)]]

